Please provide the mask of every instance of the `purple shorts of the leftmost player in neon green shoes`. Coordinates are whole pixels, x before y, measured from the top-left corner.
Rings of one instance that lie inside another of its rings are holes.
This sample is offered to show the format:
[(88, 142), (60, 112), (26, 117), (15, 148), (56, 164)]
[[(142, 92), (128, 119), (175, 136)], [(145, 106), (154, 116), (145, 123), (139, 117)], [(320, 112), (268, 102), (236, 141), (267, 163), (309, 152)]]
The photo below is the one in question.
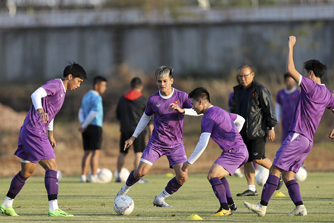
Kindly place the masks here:
[(45, 133), (26, 127), (21, 127), (18, 148), (14, 155), (34, 164), (37, 164), (38, 160), (56, 159), (55, 150)]

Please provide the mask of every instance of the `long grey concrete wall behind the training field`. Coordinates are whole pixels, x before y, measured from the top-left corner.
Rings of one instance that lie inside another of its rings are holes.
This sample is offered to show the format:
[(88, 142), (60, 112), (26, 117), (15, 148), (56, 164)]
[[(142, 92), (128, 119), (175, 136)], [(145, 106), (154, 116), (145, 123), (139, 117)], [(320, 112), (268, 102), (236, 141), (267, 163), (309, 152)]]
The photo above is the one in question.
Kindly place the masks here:
[[(310, 16), (309, 16), (310, 15)], [(226, 75), (251, 64), (261, 75), (285, 69), (287, 37), (297, 36), (295, 63), (317, 58), (334, 71), (334, 5), (199, 11), (87, 11), (0, 16), (0, 77), (62, 75), (68, 60), (89, 74), (112, 75), (126, 63), (153, 74)]]

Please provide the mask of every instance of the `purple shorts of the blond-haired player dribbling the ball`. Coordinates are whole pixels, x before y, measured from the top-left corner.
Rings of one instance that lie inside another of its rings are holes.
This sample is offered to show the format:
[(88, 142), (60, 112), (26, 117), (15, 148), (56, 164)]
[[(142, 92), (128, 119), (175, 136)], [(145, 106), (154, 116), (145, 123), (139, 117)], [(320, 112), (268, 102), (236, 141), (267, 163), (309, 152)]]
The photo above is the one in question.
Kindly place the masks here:
[(173, 146), (161, 146), (151, 140), (148, 141), (141, 158), (154, 164), (163, 155), (167, 156), (169, 168), (173, 168), (174, 165), (182, 164), (188, 160), (183, 142)]

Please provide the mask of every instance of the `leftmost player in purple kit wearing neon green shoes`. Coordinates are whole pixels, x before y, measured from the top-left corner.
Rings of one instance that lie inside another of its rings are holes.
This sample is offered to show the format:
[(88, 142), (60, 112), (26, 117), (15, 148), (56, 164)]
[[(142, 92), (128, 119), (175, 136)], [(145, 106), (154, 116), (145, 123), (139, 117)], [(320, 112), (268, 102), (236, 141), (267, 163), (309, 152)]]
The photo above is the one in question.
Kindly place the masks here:
[(21, 158), (21, 170), (14, 176), (0, 212), (9, 216), (18, 216), (13, 209), (13, 201), (25, 185), (28, 177), (39, 163), (45, 169), (45, 188), (49, 198), (50, 217), (73, 217), (58, 208), (58, 165), (54, 148), (53, 123), (61, 109), (66, 91), (80, 87), (86, 79), (86, 72), (78, 63), (66, 66), (62, 79), (53, 79), (32, 93), (32, 105), (21, 127), (18, 148), (15, 155)]

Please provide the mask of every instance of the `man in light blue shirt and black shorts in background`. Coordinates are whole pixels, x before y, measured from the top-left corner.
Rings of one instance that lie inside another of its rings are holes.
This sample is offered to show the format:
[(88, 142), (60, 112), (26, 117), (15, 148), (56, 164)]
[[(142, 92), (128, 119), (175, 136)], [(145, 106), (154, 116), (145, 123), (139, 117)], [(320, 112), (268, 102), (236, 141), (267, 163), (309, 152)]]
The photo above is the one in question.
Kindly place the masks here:
[(93, 80), (93, 90), (88, 91), (81, 102), (79, 109), (79, 131), (83, 135), (83, 161), (80, 182), (87, 182), (87, 174), (90, 160), (92, 174), (89, 182), (98, 183), (97, 169), (99, 168), (101, 143), (103, 105), (101, 94), (107, 90), (107, 79), (96, 76)]

